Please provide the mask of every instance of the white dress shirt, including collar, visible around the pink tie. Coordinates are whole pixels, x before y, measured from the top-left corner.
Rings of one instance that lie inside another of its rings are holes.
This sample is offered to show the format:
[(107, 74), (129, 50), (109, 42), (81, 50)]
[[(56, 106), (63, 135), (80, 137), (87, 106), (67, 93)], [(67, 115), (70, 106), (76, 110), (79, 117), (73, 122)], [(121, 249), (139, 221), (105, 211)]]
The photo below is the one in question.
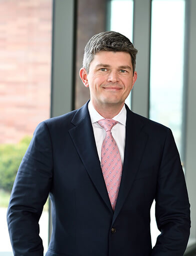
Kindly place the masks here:
[[(94, 139), (96, 143), (96, 149), (98, 153), (98, 157), (101, 163), (101, 146), (103, 143), (103, 140), (105, 138), (105, 130), (97, 123), (98, 120), (103, 119), (102, 117), (93, 107), (92, 102), (89, 101), (88, 103), (88, 111), (90, 115), (90, 119), (92, 122), (92, 129), (94, 133)], [(112, 118), (115, 121), (118, 121), (112, 129), (111, 134), (117, 144), (121, 162), (123, 165), (124, 161), (124, 146), (125, 146), (125, 125), (126, 125), (126, 108), (123, 105), (120, 112)]]

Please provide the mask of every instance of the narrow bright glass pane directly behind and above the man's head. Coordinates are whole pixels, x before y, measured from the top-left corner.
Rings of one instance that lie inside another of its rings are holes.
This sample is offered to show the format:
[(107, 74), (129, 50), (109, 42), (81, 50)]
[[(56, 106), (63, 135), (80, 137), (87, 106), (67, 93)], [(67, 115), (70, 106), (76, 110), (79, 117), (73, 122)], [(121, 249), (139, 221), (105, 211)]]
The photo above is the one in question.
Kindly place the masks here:
[[(126, 36), (132, 42), (133, 0), (111, 0), (109, 24), (109, 30)], [(125, 103), (129, 107), (130, 99), (131, 96), (129, 94), (125, 100)]]

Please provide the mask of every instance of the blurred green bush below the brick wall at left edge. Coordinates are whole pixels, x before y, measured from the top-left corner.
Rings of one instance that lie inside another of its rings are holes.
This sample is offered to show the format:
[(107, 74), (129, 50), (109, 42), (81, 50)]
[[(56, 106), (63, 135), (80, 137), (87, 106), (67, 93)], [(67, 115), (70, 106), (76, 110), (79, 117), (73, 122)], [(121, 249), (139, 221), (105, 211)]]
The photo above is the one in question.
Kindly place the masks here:
[(26, 136), (17, 144), (0, 145), (0, 189), (10, 192), (19, 164), (31, 138)]

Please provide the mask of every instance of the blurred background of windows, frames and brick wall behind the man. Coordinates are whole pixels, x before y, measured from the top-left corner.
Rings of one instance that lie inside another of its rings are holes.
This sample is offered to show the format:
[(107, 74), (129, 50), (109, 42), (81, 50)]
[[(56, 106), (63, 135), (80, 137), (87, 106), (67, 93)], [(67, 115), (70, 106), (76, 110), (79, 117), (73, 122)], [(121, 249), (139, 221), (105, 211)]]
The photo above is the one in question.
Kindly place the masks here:
[[(195, 14), (195, 0), (0, 0), (0, 256), (12, 255), (6, 208), (33, 131), (89, 99), (78, 75), (83, 49), (105, 30), (138, 49), (138, 78), (126, 104), (173, 132), (191, 204), (184, 255), (196, 255)], [(48, 201), (39, 221), (44, 251), (52, 228)], [(158, 234), (153, 203), (152, 245)]]

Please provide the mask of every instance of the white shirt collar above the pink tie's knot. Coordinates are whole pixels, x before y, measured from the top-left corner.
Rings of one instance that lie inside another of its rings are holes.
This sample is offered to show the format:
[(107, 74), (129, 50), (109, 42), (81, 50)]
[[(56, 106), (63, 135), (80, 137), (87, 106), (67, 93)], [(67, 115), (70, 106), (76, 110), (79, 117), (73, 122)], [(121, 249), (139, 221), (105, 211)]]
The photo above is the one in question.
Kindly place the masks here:
[[(90, 115), (90, 119), (91, 119), (92, 123), (97, 122), (98, 120), (104, 118), (95, 110), (91, 101), (88, 102), (88, 111), (89, 111), (89, 115)], [(115, 121), (118, 121), (119, 123), (121, 123), (123, 125), (126, 124), (126, 108), (125, 108), (125, 105), (123, 105), (120, 112), (117, 115), (115, 115), (112, 119), (115, 120)]]

